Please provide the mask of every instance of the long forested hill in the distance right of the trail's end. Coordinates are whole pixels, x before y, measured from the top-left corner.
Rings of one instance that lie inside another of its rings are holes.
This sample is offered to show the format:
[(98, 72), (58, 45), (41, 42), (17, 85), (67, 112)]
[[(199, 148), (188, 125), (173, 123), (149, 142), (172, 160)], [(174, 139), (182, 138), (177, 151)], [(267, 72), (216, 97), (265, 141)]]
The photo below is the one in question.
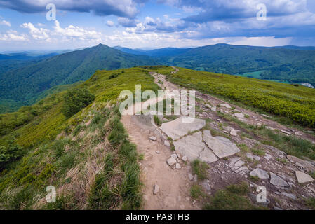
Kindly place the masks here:
[(159, 59), (163, 64), (187, 69), (314, 85), (315, 50), (304, 49), (217, 44)]

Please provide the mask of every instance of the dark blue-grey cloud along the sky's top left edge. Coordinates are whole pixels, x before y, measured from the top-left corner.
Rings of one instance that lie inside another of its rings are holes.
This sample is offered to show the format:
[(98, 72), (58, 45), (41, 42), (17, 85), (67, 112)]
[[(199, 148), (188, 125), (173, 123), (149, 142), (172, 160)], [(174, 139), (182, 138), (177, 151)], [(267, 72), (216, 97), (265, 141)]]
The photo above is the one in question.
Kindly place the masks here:
[(48, 3), (54, 3), (57, 10), (95, 13), (95, 15), (117, 15), (135, 18), (138, 14), (137, 3), (146, 0), (0, 0), (0, 7), (10, 8), (22, 13), (40, 13), (46, 11)]

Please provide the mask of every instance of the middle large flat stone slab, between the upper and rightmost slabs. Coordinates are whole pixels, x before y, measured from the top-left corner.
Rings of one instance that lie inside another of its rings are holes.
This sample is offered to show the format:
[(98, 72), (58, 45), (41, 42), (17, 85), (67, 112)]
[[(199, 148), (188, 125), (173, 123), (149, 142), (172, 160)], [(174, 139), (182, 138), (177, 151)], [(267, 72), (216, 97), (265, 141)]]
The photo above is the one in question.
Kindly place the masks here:
[(202, 141), (202, 132), (196, 132), (173, 142), (175, 150), (189, 161), (199, 159), (203, 162), (215, 162), (217, 158)]

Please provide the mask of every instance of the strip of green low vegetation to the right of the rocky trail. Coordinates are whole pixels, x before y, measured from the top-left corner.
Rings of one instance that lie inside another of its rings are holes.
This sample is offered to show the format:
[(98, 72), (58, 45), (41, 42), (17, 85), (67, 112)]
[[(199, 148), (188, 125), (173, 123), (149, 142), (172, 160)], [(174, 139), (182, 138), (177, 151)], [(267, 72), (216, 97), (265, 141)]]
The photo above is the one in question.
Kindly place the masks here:
[(177, 85), (222, 95), (300, 125), (315, 127), (314, 89), (189, 69), (168, 76)]

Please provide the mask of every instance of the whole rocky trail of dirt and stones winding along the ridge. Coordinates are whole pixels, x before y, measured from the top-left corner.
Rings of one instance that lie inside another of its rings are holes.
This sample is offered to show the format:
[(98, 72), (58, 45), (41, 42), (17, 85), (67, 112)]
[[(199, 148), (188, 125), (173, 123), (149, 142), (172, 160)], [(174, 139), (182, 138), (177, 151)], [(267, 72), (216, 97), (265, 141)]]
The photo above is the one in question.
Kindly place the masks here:
[[(178, 69), (174, 69), (173, 73), (176, 73)], [(166, 76), (150, 74), (161, 89), (180, 90)], [(144, 183), (143, 209), (201, 209), (201, 202), (190, 196), (193, 184), (199, 184), (208, 195), (213, 195), (217, 190), (242, 181), (250, 186), (248, 197), (254, 203), (257, 203), (257, 186), (264, 186), (267, 202), (260, 205), (269, 209), (307, 209), (304, 200), (315, 197), (314, 179), (309, 176), (315, 172), (315, 162), (286, 155), (273, 146), (262, 144), (259, 137), (241, 136), (248, 130), (222, 114), (313, 143), (314, 136), (290, 130), (269, 120), (267, 115), (228, 104), (208, 94), (196, 92), (196, 97), (198, 110), (193, 123), (182, 123), (182, 117), (160, 116), (163, 123), (157, 127), (151, 116), (122, 118), (130, 141), (144, 155), (140, 162)], [(201, 181), (193, 175), (190, 162), (196, 159), (210, 165), (207, 179)]]

